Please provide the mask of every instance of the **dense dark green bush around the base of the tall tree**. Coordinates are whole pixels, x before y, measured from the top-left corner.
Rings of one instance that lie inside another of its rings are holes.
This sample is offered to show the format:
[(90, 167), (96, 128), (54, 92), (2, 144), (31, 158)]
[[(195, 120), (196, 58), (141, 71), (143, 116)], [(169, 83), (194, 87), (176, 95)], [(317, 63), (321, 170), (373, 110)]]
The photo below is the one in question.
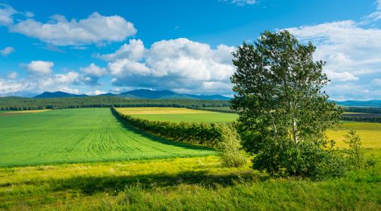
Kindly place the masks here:
[[(269, 141), (270, 142), (270, 141)], [(347, 168), (344, 157), (333, 147), (324, 148), (324, 141), (294, 143), (283, 139), (265, 144), (253, 159), (253, 169), (265, 170), (277, 177), (340, 177)]]

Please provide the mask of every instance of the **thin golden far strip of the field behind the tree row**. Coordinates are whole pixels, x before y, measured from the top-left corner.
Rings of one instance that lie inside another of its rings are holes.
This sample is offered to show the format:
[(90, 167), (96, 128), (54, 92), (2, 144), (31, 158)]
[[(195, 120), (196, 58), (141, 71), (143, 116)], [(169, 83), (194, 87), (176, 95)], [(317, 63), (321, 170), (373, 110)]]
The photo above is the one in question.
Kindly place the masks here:
[(184, 113), (211, 113), (206, 110), (193, 110), (189, 108), (172, 107), (139, 107), (139, 108), (116, 108), (119, 112), (128, 115), (146, 114), (184, 114)]

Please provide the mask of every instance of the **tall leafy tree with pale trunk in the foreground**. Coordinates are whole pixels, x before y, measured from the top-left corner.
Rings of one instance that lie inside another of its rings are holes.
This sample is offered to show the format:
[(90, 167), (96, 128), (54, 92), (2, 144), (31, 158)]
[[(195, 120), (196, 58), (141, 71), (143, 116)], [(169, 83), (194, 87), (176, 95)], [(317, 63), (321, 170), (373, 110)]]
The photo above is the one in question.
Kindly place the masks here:
[(284, 30), (266, 31), (233, 53), (231, 108), (239, 115), (243, 146), (257, 154), (253, 168), (313, 177), (327, 160), (325, 131), (339, 124), (342, 110), (322, 91), (329, 80), (314, 52), (313, 44)]

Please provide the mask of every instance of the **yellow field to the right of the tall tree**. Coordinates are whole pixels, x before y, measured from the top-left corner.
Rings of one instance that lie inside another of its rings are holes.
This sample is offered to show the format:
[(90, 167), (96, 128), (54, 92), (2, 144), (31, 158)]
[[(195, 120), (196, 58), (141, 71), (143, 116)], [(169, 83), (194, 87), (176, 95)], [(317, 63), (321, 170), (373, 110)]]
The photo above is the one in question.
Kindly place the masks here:
[(342, 127), (337, 131), (329, 130), (327, 136), (329, 139), (334, 139), (337, 146), (347, 147), (344, 143), (344, 135), (349, 132), (349, 129), (356, 130), (361, 137), (361, 142), (364, 148), (381, 148), (381, 123), (370, 122), (344, 122)]

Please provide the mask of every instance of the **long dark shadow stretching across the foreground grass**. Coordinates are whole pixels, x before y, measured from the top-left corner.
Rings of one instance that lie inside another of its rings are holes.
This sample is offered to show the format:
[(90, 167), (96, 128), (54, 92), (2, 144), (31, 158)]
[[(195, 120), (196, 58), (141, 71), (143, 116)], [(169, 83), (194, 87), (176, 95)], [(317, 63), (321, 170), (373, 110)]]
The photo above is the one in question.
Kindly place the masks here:
[(236, 172), (231, 174), (207, 174), (207, 172), (186, 171), (181, 174), (145, 174), (135, 176), (105, 177), (72, 177), (49, 181), (53, 191), (75, 190), (85, 194), (99, 192), (116, 193), (125, 188), (140, 186), (145, 189), (171, 187), (179, 184), (198, 184), (209, 188), (233, 186), (243, 181), (265, 181), (268, 176), (259, 176), (253, 172)]

